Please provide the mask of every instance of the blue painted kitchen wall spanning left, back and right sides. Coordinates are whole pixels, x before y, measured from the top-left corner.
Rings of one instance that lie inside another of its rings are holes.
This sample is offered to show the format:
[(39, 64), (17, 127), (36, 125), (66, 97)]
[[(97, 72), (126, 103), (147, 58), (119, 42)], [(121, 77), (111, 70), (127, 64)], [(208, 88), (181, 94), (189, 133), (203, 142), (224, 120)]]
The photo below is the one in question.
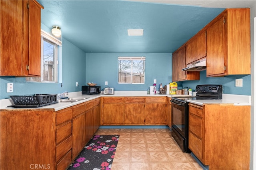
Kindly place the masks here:
[[(118, 84), (118, 56), (145, 56), (145, 84)], [(235, 87), (235, 79), (243, 79), (243, 87)], [(84, 53), (78, 47), (62, 38), (62, 87), (60, 83), (26, 82), (25, 78), (0, 77), (0, 99), (8, 95), (19, 94), (50, 94), (64, 91), (78, 92), (86, 82), (96, 82), (102, 87), (105, 81), (115, 90), (147, 90), (154, 79), (166, 85), (172, 81), (172, 54), (169, 53)], [(6, 84), (14, 83), (14, 92), (6, 92)], [(76, 87), (76, 82), (80, 86)], [(198, 84), (222, 84), (226, 94), (251, 95), (251, 75), (234, 75), (226, 77), (206, 78), (206, 71), (200, 72), (200, 80), (178, 82), (179, 88), (188, 86), (192, 89)]]

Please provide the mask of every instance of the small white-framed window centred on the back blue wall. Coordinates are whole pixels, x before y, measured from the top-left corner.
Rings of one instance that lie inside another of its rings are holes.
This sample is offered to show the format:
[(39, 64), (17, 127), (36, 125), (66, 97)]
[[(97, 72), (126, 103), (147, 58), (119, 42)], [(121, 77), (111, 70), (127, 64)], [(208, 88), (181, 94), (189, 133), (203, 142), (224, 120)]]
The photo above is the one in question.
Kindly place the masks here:
[(118, 57), (118, 83), (145, 84), (146, 57)]

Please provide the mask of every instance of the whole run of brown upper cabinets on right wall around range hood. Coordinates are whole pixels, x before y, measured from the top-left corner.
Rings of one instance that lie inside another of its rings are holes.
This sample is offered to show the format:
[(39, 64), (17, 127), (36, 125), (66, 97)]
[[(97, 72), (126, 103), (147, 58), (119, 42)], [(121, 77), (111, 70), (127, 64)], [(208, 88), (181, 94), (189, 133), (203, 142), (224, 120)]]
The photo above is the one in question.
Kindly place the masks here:
[[(185, 47), (186, 55), (182, 53)], [(250, 8), (224, 10), (177, 49), (172, 55), (172, 81), (199, 80), (189, 78), (190, 71), (183, 79), (181, 69), (203, 58), (207, 77), (251, 74)]]

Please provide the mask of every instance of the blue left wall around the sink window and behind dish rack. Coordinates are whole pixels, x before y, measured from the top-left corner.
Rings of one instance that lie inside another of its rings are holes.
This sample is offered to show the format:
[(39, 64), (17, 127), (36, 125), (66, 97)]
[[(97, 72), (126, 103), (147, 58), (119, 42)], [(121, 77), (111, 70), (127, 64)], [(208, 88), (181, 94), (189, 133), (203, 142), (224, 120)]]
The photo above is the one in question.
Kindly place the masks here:
[[(0, 99), (9, 98), (8, 95), (81, 91), (81, 86), (76, 87), (76, 82), (85, 83), (85, 56), (84, 51), (62, 38), (62, 87), (60, 83), (26, 82), (25, 78), (0, 76)], [(12, 93), (6, 92), (7, 83), (13, 83)]]

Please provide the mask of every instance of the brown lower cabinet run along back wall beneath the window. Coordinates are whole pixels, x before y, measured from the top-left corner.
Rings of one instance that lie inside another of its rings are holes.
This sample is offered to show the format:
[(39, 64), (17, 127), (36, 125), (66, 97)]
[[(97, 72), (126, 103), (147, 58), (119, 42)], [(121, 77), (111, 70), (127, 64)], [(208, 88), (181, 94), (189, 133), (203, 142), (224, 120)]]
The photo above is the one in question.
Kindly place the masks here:
[(164, 97), (103, 97), (101, 125), (167, 125)]

